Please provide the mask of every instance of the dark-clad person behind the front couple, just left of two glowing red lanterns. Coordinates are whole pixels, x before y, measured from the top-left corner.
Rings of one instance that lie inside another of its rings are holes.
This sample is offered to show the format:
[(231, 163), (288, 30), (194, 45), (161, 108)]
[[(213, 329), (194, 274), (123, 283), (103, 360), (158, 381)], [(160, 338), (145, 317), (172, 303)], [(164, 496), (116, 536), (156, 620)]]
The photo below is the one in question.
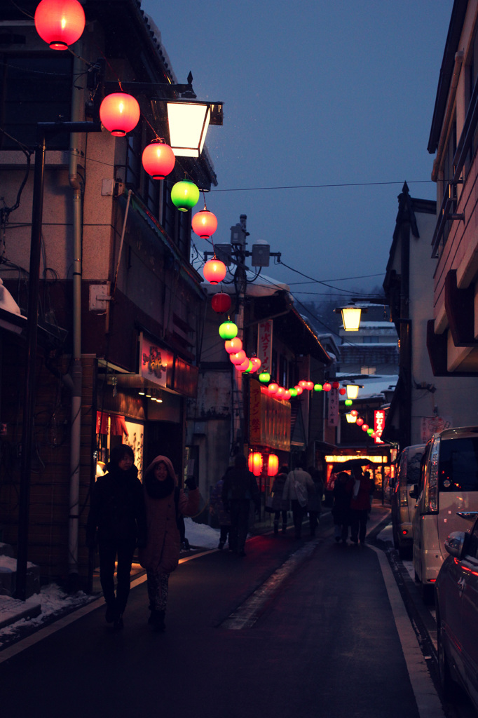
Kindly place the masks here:
[(233, 468), (225, 472), (222, 485), (222, 503), (230, 512), (229, 550), (238, 556), (245, 556), (251, 500), (258, 509), (260, 497), (256, 477), (248, 470), (244, 454), (238, 454)]

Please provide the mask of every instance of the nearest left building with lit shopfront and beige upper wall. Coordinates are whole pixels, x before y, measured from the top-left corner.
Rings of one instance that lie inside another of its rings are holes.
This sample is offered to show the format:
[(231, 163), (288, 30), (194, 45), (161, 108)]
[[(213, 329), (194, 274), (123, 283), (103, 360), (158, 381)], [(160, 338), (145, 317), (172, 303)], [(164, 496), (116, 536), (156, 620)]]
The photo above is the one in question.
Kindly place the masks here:
[[(22, 9), (33, 17), (36, 5), (25, 1)], [(0, 523), (3, 540), (17, 546), (24, 378), (32, 370), (28, 559), (45, 580), (88, 588), (89, 492), (111, 448), (131, 445), (140, 475), (157, 454), (171, 457), (181, 478), (188, 465), (194, 471), (184, 450), (186, 403), (197, 392), (205, 293), (189, 261), (191, 210), (177, 210), (171, 188), (184, 177), (203, 190), (217, 180), (207, 150), (197, 159), (177, 157), (164, 180), (144, 171), (146, 144), (167, 137), (157, 98), (177, 78), (139, 1), (117, 0), (114, 13), (103, 0), (83, 7), (75, 54), (50, 50), (15, 4), (0, 10), (0, 277), (24, 317), (32, 296), (37, 123), (81, 123), (75, 132), (60, 127), (46, 135), (34, 355), (17, 326), (22, 319), (2, 310)], [(125, 83), (136, 88), (130, 91), (141, 108), (136, 129), (125, 137), (90, 131), (103, 95)]]

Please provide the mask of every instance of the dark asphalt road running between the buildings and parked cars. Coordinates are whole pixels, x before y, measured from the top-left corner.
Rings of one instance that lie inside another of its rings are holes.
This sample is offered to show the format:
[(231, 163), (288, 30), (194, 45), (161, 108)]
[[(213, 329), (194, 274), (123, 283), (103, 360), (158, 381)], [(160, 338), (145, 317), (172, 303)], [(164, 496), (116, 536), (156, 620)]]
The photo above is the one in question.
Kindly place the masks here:
[(257, 536), (247, 554), (182, 564), (164, 634), (146, 623), (144, 582), (121, 632), (103, 606), (53, 625), (1, 663), (1, 715), (443, 715), (383, 552), (335, 544), (324, 522), (315, 541)]

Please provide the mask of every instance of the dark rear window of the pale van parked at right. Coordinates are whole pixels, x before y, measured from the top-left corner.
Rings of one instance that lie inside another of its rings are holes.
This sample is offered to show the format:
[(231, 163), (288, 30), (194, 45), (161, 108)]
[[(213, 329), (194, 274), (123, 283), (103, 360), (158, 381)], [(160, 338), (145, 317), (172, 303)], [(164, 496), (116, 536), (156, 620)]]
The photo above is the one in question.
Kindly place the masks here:
[(440, 491), (478, 491), (478, 437), (441, 440)]

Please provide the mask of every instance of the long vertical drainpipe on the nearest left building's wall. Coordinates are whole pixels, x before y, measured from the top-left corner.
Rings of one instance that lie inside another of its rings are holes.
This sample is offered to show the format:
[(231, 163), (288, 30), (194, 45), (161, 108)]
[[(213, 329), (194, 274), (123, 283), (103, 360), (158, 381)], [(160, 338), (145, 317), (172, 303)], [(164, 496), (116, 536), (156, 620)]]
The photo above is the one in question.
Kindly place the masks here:
[[(75, 57), (73, 73), (78, 76), (83, 65)], [(83, 119), (83, 93), (73, 87), (72, 121)], [(81, 436), (81, 396), (83, 366), (81, 363), (81, 215), (82, 196), (78, 179), (78, 157), (80, 135), (70, 134), (70, 168), (68, 179), (72, 188), (72, 240), (73, 240), (73, 348), (71, 386), (71, 433), (70, 433), (70, 512), (68, 516), (68, 583), (71, 590), (78, 589), (78, 524), (80, 508), (80, 436)], [(76, 585), (75, 585), (76, 584)]]

